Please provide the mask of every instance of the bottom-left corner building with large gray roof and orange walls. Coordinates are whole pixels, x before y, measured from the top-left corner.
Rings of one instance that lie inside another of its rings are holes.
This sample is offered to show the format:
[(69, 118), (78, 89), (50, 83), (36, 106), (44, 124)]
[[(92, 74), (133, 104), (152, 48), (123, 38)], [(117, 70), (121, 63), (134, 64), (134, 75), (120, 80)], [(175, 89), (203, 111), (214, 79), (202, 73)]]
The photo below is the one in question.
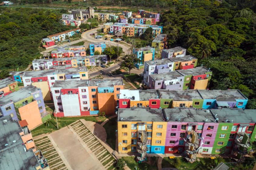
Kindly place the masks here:
[(1, 150), (4, 150), (1, 152), (0, 169), (50, 170), (40, 150), (33, 152), (33, 148), (27, 149), (27, 146), (34, 143), (29, 130), (26, 131), (10, 116), (1, 117), (0, 121), (0, 133), (3, 136)]

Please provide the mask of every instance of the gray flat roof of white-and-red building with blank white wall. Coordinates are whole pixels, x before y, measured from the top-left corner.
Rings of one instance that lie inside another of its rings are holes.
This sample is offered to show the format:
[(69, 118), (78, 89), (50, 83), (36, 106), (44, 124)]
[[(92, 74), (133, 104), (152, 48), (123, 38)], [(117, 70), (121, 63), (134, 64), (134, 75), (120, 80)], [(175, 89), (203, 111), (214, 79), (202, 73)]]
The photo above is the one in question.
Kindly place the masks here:
[(88, 86), (88, 83), (89, 80), (56, 80), (52, 88), (78, 88)]

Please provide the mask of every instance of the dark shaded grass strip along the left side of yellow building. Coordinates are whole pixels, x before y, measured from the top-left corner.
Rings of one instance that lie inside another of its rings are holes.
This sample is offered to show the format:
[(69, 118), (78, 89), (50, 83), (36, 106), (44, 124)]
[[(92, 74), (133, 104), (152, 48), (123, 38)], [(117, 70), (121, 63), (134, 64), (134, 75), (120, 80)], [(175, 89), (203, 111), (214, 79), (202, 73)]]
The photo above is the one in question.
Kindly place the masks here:
[(113, 150), (116, 149), (116, 120), (117, 117), (114, 117), (103, 126), (107, 133), (107, 143)]

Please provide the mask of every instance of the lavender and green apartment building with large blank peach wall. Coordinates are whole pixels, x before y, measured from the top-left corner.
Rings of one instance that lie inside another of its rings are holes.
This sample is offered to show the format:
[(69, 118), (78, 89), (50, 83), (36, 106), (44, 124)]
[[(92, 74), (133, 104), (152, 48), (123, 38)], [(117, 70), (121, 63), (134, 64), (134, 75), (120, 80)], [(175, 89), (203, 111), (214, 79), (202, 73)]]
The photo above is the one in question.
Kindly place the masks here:
[(21, 88), (0, 98), (0, 112), (10, 115), (13, 120), (26, 120), (29, 129), (33, 129), (49, 119), (40, 88), (32, 85)]

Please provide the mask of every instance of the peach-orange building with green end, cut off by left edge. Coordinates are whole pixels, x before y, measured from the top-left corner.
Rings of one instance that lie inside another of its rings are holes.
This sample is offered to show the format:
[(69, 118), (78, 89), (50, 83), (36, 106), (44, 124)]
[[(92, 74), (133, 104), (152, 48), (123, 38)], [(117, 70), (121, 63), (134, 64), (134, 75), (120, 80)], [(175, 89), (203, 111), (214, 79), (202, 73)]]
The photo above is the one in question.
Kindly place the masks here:
[(0, 96), (6, 96), (17, 90), (19, 90), (19, 86), (15, 80), (11, 78), (0, 80)]

